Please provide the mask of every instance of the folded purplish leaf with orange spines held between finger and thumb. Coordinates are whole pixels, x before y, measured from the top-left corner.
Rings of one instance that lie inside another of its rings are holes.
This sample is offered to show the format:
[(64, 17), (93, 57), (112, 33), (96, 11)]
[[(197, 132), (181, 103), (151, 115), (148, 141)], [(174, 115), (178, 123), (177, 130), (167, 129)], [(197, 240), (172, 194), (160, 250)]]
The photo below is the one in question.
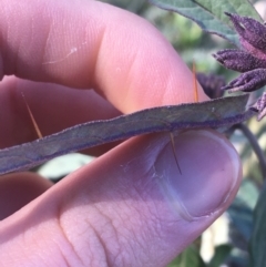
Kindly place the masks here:
[(75, 125), (43, 138), (0, 150), (0, 174), (21, 171), (48, 160), (135, 135), (190, 129), (222, 129), (250, 117), (248, 95), (201, 103), (158, 106), (106, 121)]

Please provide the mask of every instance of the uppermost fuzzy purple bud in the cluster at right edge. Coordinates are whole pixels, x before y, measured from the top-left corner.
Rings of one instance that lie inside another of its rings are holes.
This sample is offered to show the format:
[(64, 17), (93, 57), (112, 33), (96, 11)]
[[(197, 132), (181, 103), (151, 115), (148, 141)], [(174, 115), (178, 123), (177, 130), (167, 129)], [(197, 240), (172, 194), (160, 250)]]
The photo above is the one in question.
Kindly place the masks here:
[(266, 27), (248, 17), (225, 12), (241, 37), (243, 48), (256, 58), (266, 60)]

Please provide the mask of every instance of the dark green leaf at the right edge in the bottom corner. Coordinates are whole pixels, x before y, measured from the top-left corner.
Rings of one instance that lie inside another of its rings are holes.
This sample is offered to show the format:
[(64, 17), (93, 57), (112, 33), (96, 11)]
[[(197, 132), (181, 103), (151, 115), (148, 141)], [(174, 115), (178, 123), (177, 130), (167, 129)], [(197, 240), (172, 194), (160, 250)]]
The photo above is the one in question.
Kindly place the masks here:
[(250, 266), (266, 265), (266, 184), (254, 212), (254, 230), (249, 243)]

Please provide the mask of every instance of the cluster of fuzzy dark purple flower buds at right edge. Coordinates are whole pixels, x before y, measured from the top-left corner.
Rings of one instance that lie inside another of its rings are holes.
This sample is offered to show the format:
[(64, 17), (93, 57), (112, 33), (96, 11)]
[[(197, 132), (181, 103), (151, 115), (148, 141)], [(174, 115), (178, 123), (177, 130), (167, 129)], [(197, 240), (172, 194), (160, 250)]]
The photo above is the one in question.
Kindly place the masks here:
[[(226, 13), (239, 35), (243, 50), (226, 49), (213, 57), (225, 68), (242, 72), (222, 90), (253, 92), (266, 85), (266, 25), (238, 14)], [(258, 112), (258, 120), (266, 115), (266, 93), (250, 107)]]

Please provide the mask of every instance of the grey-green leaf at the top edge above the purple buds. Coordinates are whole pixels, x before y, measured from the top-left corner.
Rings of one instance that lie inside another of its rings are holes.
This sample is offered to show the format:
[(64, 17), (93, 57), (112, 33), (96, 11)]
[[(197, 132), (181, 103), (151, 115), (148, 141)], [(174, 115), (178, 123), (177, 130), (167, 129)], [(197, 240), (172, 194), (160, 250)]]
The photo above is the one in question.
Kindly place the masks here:
[(248, 0), (149, 0), (154, 6), (177, 12), (195, 21), (204, 31), (217, 34), (239, 45), (238, 35), (233, 29), (229, 13), (248, 16), (262, 22), (262, 18)]

